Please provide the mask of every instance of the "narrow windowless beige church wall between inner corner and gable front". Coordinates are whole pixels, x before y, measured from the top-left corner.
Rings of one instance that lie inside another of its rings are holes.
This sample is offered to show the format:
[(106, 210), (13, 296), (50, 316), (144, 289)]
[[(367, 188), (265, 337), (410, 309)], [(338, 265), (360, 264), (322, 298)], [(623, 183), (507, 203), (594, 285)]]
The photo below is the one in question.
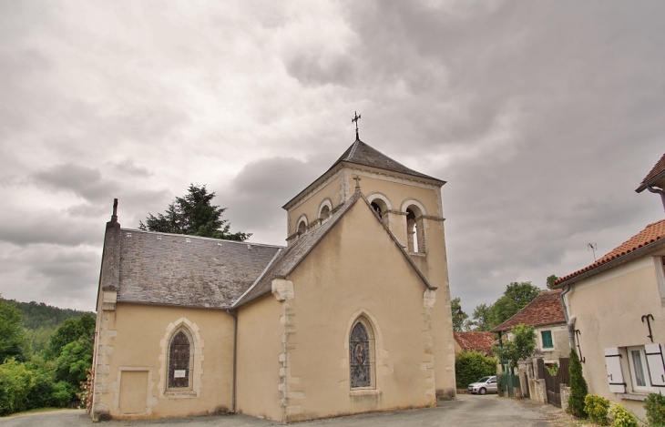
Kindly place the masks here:
[(236, 412), (281, 420), (283, 308), (271, 294), (238, 310)]

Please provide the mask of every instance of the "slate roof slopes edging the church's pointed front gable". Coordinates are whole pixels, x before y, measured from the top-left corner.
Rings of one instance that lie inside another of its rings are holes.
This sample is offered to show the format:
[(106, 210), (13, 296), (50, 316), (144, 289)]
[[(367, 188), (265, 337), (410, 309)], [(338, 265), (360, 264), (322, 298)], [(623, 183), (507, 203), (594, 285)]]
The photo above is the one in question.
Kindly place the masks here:
[[(312, 231), (303, 234), (299, 239), (294, 241), (291, 245), (289, 245), (285, 249), (282, 249), (281, 252), (277, 255), (277, 257), (275, 257), (275, 259), (271, 262), (270, 266), (268, 266), (268, 268), (263, 272), (263, 274), (261, 274), (260, 279), (257, 280), (256, 283), (251, 287), (251, 289), (247, 290), (247, 292), (244, 295), (242, 295), (240, 299), (233, 304), (233, 307), (238, 307), (251, 300), (261, 297), (261, 295), (270, 293), (272, 291), (272, 280), (283, 279), (287, 277), (293, 271), (293, 269), (295, 269), (298, 266), (298, 264), (300, 264), (301, 261), (305, 259), (305, 257), (307, 257), (307, 255), (312, 251), (312, 249), (314, 249), (314, 247), (328, 233), (328, 231), (333, 229), (335, 224), (337, 224), (337, 222), (343, 218), (344, 214), (350, 208), (352, 208), (353, 205), (360, 199), (364, 200), (364, 202), (367, 204), (368, 209), (372, 209), (367, 199), (364, 198), (363, 194), (361, 192), (355, 192), (351, 198), (349, 198), (343, 205), (341, 205), (341, 207), (333, 210), (331, 216), (329, 217), (330, 219), (324, 222), (317, 229), (313, 229)], [(404, 251), (399, 241), (394, 237), (393, 233), (389, 229), (387, 229), (387, 227), (385, 227), (381, 219), (378, 219), (377, 217), (376, 220), (379, 222), (379, 224), (381, 224), (384, 227), (384, 229), (388, 232), (391, 238), (394, 239), (395, 246), (397, 246), (398, 250), (401, 250), (403, 252), (404, 257), (407, 259), (408, 262), (411, 263), (412, 267), (415, 269), (415, 271), (418, 273), (420, 278), (425, 283), (425, 287), (428, 289), (435, 290), (436, 287), (431, 286), (429, 282), (425, 279), (423, 273), (420, 271), (420, 269), (418, 269), (415, 266), (414, 261)]]

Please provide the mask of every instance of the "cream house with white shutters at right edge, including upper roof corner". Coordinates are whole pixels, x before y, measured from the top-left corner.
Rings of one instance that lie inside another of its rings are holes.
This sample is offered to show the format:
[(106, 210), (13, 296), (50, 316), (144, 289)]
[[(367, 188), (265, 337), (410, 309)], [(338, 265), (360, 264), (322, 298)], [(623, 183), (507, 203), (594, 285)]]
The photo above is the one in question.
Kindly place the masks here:
[[(665, 156), (638, 192), (661, 193)], [(643, 412), (648, 393), (665, 392), (665, 219), (584, 269), (557, 281), (576, 331), (588, 392)]]

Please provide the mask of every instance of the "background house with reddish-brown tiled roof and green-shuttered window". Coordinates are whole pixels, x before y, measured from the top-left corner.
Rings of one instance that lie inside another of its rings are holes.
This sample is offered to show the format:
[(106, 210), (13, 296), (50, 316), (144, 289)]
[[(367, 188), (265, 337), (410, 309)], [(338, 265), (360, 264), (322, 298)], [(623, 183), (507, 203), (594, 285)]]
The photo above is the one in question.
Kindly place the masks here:
[(542, 357), (546, 365), (554, 364), (560, 357), (568, 357), (568, 330), (566, 315), (561, 304), (561, 290), (543, 290), (522, 310), (498, 325), (492, 332), (507, 334), (519, 324), (536, 329), (536, 350), (534, 356)]

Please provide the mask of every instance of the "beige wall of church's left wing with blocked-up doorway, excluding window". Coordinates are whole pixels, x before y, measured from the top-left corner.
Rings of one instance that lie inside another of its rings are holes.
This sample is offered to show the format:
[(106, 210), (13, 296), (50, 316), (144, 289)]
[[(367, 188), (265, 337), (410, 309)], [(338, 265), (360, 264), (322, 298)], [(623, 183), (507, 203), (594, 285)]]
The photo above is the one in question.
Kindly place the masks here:
[[(222, 310), (118, 303), (97, 316), (95, 414), (144, 419), (226, 412), (231, 406), (233, 320)], [(194, 341), (189, 390), (166, 391), (169, 336)]]

